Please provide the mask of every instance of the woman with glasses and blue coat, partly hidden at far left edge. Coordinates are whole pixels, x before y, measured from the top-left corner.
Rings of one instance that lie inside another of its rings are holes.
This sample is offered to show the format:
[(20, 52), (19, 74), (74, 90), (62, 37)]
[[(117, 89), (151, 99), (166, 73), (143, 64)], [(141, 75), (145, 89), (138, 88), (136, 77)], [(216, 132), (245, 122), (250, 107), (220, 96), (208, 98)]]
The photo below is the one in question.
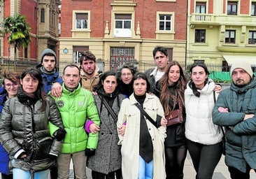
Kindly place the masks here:
[[(3, 87), (0, 88), (0, 113), (3, 105), (8, 99), (17, 94), (17, 88), (20, 86), (20, 74), (15, 71), (8, 71), (3, 74)], [(13, 173), (9, 170), (9, 155), (0, 143), (0, 173), (2, 179), (13, 178)]]

